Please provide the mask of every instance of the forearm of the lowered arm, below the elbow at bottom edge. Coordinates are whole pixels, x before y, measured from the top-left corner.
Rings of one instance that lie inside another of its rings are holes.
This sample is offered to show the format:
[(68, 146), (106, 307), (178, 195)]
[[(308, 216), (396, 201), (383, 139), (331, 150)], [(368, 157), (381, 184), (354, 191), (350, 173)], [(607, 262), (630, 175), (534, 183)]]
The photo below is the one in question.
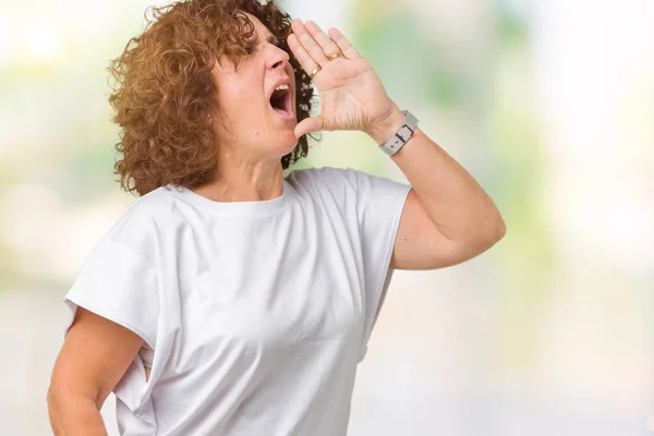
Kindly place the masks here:
[(48, 393), (48, 412), (57, 436), (107, 436), (102, 415), (93, 399)]

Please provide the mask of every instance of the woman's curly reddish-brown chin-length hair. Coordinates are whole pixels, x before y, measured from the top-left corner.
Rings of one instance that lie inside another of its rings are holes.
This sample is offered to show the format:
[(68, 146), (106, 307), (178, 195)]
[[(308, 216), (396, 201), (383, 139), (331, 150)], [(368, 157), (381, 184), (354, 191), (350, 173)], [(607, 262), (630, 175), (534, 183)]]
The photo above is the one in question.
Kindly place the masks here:
[[(124, 191), (144, 195), (168, 183), (194, 187), (214, 178), (218, 150), (208, 114), (219, 116), (220, 108), (211, 70), (219, 56), (239, 68), (247, 53), (255, 28), (240, 11), (256, 16), (290, 55), (298, 121), (310, 117), (314, 88), (286, 44), (291, 17), (275, 2), (190, 0), (150, 9), (145, 31), (108, 68), (116, 81), (112, 121), (121, 128), (116, 149), (122, 159), (113, 173)], [(282, 168), (307, 152), (303, 135), (281, 158)]]

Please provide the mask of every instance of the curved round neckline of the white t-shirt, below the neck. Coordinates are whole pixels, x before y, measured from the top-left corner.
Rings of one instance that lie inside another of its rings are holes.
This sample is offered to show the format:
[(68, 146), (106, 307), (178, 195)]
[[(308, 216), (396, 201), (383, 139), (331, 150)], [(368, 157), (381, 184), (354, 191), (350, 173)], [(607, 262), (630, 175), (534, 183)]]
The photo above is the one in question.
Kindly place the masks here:
[(199, 195), (186, 186), (169, 183), (168, 187), (173, 195), (185, 199), (202, 210), (221, 215), (261, 215), (281, 210), (288, 204), (292, 186), (283, 180), (281, 195), (272, 199), (252, 202), (216, 202)]

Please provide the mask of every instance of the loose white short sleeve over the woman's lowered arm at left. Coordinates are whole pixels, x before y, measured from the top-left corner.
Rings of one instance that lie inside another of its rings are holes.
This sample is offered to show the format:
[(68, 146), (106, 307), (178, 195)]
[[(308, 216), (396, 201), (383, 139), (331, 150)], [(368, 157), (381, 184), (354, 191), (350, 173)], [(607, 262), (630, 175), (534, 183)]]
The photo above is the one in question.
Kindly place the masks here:
[(99, 241), (64, 296), (72, 314), (82, 306), (138, 335), (152, 349), (157, 341), (157, 275), (146, 257), (150, 247), (146, 220), (135, 208)]

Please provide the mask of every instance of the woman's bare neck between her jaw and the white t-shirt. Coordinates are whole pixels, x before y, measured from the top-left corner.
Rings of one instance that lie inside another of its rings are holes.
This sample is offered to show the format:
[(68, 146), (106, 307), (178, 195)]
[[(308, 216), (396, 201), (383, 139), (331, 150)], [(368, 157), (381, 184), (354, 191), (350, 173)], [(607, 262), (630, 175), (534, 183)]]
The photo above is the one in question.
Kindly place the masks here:
[(279, 197), (283, 192), (283, 170), (276, 161), (249, 161), (235, 156), (220, 156), (214, 181), (193, 192), (215, 202), (261, 202)]

